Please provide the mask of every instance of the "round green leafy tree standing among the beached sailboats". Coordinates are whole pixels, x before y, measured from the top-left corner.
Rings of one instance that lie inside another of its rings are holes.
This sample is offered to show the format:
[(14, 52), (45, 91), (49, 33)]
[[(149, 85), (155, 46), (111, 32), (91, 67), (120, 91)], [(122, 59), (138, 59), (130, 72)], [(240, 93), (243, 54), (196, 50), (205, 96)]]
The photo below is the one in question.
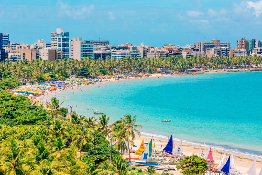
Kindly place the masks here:
[(204, 158), (193, 155), (181, 160), (180, 165), (177, 165), (177, 169), (185, 175), (200, 175), (208, 169), (208, 163)]

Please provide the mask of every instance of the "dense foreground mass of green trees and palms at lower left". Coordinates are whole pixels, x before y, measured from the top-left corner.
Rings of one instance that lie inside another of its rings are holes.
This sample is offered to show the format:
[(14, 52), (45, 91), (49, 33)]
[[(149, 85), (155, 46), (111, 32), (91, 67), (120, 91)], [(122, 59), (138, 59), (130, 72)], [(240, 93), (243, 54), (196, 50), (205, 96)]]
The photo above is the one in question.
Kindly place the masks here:
[[(121, 158), (119, 140), (132, 134), (129, 127), (137, 126), (135, 117), (126, 115), (108, 125), (106, 115), (98, 120), (75, 111), (71, 115), (61, 104), (52, 98), (46, 110), (32, 106), (24, 96), (0, 91), (0, 175), (133, 174), (133, 166), (128, 167)], [(48, 125), (46, 114), (50, 115)], [(107, 140), (111, 132), (117, 141), (112, 147), (112, 161)]]

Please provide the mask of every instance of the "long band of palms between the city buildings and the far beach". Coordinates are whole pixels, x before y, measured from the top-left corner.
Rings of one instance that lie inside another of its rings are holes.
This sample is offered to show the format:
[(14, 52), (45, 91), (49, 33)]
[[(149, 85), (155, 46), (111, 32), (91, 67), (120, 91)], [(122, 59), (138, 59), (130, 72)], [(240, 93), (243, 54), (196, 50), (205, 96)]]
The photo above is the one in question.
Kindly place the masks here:
[[(193, 67), (204, 68), (252, 68), (262, 66), (262, 57), (240, 56), (240, 57), (208, 57), (192, 56), (183, 58), (182, 55), (168, 56), (159, 58), (128, 56), (125, 58), (107, 57), (95, 60), (90, 57), (84, 57), (81, 60), (63, 59), (55, 61), (32, 60), (29, 62), (16, 61), (12, 63), (9, 59), (0, 62), (0, 79), (16, 76), (19, 80), (26, 79), (41, 82), (47, 80), (65, 79), (70, 75), (79, 77), (94, 77), (105, 74), (132, 73), (132, 72), (156, 72), (156, 68), (171, 71), (184, 71)], [(12, 70), (12, 71), (11, 71)]]

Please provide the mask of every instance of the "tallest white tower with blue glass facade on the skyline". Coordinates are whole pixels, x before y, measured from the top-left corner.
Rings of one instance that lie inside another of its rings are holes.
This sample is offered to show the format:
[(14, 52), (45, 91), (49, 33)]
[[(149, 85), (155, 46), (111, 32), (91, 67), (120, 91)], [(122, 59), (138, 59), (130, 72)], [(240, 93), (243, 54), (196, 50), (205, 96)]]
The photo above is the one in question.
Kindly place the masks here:
[(62, 58), (69, 58), (69, 32), (63, 29), (51, 31), (51, 48), (63, 51)]

